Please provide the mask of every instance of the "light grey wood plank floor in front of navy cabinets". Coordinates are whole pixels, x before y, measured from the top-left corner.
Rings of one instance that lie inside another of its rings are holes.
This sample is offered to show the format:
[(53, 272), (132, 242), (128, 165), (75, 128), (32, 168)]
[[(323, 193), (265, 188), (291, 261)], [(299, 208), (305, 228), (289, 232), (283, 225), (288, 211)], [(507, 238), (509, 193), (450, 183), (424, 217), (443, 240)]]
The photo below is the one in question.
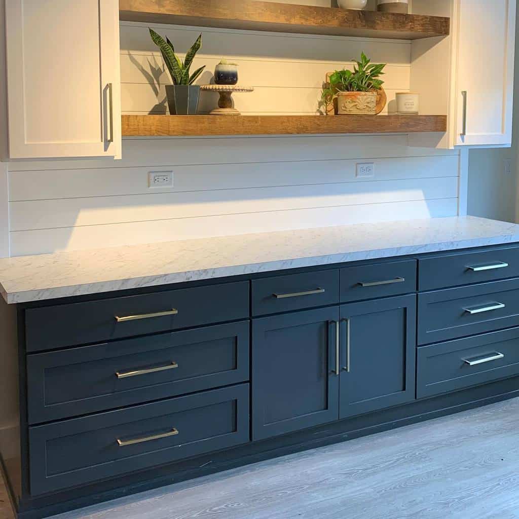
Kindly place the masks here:
[(519, 399), (56, 517), (519, 518)]

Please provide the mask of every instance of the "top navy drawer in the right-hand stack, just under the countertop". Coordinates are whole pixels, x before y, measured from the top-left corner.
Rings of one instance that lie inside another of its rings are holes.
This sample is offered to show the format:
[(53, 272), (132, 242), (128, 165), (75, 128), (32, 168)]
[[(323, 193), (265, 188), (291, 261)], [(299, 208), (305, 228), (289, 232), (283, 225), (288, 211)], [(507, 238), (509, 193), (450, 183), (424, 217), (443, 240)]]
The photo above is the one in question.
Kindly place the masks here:
[(424, 258), (418, 265), (420, 291), (514, 278), (519, 276), (519, 248)]

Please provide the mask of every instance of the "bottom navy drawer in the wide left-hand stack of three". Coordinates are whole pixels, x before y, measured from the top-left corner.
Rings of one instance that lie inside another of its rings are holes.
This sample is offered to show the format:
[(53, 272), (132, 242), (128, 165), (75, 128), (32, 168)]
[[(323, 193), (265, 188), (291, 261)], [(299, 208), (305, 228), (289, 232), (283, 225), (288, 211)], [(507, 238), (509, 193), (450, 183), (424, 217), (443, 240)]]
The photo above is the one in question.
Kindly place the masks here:
[(30, 427), (31, 494), (248, 441), (248, 384)]

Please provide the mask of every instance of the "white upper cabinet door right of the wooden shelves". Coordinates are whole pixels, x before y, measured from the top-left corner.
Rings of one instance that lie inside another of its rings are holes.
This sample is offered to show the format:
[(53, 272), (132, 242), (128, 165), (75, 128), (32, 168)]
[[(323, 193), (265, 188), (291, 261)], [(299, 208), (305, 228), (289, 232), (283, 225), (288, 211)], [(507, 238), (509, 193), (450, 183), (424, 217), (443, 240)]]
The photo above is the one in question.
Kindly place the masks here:
[(510, 145), (516, 1), (458, 2), (456, 144)]

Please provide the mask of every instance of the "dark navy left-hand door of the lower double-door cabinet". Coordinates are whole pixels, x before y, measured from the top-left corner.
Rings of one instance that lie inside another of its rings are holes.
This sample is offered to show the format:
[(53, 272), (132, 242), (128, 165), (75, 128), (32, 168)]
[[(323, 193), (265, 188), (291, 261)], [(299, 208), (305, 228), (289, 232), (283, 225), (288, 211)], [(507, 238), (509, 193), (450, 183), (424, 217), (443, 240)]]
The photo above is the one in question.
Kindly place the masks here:
[(332, 307), (253, 320), (253, 440), (337, 420), (338, 319)]

